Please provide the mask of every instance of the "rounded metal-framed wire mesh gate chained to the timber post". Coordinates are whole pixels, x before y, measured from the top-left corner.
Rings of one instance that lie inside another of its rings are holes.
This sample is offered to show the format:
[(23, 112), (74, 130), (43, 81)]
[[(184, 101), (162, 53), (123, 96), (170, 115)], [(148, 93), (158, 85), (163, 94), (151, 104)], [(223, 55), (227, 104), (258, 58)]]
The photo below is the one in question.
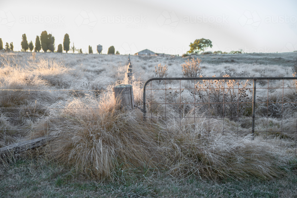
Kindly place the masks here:
[[(172, 121), (182, 126), (192, 119), (206, 132), (273, 136), (296, 155), (296, 85), (296, 77), (152, 78), (143, 86), (143, 119), (166, 130)], [(221, 130), (214, 131), (214, 120)]]

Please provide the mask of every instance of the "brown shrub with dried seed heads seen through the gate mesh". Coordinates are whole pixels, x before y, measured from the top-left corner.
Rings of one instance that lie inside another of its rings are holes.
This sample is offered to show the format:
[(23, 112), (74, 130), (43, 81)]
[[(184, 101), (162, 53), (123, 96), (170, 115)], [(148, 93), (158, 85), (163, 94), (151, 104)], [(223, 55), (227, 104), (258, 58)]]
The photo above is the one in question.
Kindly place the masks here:
[(249, 85), (251, 84), (248, 80), (202, 80), (196, 84), (197, 89), (192, 94), (195, 94), (203, 112), (214, 117), (237, 120), (238, 117), (250, 116), (252, 113), (252, 90)]

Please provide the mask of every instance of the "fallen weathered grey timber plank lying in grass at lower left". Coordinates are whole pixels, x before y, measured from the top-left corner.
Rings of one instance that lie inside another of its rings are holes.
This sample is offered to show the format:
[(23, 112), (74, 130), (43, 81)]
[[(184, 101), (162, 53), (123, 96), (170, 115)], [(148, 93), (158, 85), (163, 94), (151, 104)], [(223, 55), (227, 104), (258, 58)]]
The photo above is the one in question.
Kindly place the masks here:
[(8, 145), (0, 148), (0, 157), (7, 155), (8, 153), (21, 153), (27, 151), (28, 149), (40, 147), (47, 143), (49, 137), (38, 137), (33, 140), (26, 140), (23, 142), (18, 142), (12, 145)]

